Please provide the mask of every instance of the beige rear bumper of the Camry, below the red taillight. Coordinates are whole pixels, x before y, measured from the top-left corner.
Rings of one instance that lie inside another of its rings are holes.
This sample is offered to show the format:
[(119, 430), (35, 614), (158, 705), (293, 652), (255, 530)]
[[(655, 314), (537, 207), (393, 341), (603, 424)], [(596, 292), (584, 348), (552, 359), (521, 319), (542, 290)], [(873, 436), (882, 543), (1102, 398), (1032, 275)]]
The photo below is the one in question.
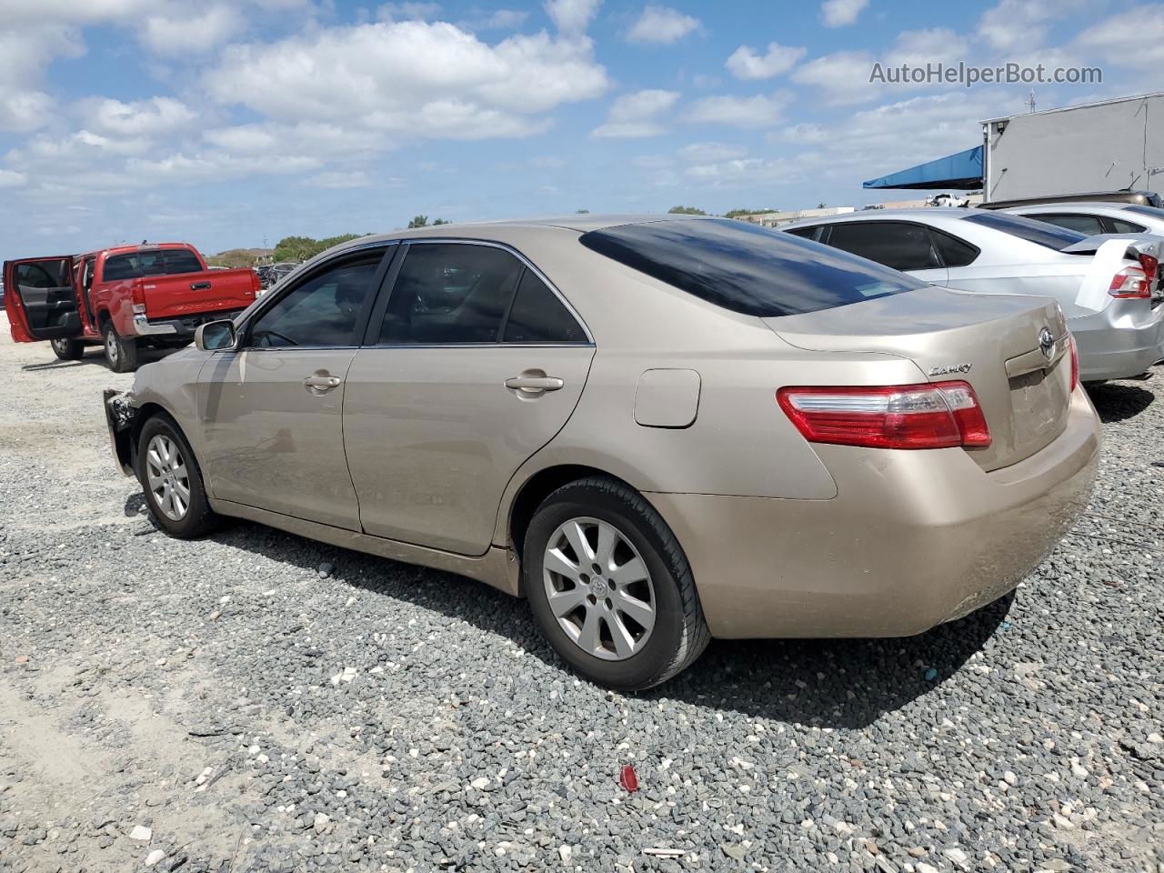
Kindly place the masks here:
[(1014, 589), (1087, 504), (1099, 420), (985, 473), (963, 449), (816, 446), (830, 501), (648, 494), (679, 538), (716, 637), (904, 637)]

